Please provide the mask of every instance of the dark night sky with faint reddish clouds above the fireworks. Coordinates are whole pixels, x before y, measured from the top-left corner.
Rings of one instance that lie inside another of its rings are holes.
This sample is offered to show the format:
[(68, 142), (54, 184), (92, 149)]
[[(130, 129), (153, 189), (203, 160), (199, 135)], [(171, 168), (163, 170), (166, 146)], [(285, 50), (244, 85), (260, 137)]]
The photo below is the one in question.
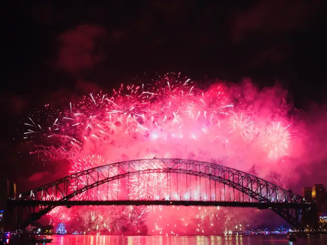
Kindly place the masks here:
[(108, 3), (2, 7), (1, 176), (28, 175), (16, 145), (29, 111), (144, 74), (249, 77), (278, 82), (299, 109), (325, 102), (326, 1)]

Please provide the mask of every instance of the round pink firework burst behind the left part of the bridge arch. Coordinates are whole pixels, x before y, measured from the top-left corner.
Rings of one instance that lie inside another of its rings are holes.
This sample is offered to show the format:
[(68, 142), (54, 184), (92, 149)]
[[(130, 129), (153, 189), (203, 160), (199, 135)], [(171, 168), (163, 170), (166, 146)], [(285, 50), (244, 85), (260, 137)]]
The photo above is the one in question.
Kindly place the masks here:
[[(72, 166), (71, 170), (69, 170), (69, 174), (75, 174), (80, 171), (93, 168), (93, 167), (99, 167), (108, 164), (107, 161), (100, 155), (87, 155), (84, 156), (82, 159), (76, 161)], [(78, 185), (80, 187), (84, 186), (86, 183), (86, 179), (83, 179), (81, 177), (80, 182)], [(109, 182), (108, 184), (103, 184), (98, 187), (89, 189), (87, 191), (84, 191), (77, 195), (76, 199), (78, 200), (115, 200), (116, 199), (116, 193), (118, 192), (118, 183)]]

